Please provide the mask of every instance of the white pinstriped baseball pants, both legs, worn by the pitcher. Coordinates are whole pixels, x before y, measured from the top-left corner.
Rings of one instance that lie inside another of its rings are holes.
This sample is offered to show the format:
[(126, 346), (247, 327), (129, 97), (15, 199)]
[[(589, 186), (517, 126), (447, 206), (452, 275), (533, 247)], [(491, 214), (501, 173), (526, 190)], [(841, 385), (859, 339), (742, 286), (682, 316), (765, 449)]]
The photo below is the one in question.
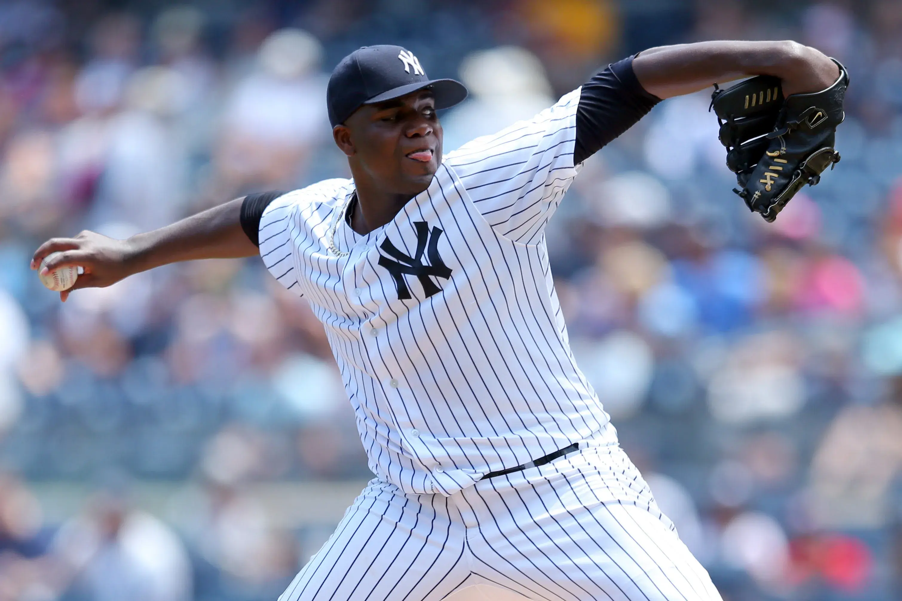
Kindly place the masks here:
[(279, 601), (439, 601), (476, 584), (549, 601), (719, 601), (613, 441), (452, 496), (374, 479)]

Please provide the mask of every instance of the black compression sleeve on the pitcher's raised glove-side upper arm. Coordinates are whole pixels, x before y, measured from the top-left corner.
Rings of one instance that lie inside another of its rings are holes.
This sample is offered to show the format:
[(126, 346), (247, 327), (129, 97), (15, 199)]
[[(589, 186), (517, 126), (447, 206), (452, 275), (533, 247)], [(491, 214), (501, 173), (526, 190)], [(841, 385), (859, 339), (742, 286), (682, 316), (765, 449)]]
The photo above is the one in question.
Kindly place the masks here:
[(661, 101), (639, 83), (632, 59), (608, 65), (584, 84), (576, 108), (574, 165), (626, 132)]

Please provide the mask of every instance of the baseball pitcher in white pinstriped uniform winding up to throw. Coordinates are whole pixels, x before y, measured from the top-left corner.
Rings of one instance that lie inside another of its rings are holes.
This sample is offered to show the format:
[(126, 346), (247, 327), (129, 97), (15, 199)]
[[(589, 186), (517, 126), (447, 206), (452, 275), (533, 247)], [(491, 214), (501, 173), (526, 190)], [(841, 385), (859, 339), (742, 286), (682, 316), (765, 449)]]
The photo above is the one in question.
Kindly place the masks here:
[(174, 261), (259, 254), (308, 299), (375, 478), (281, 601), (720, 599), (575, 363), (545, 227), (583, 161), (662, 99), (749, 76), (713, 108), (738, 193), (772, 221), (838, 159), (848, 76), (817, 50), (644, 50), (443, 156), (436, 111), (465, 87), (386, 45), (345, 57), (328, 84), (352, 178), (238, 198), (124, 241), (53, 239), (32, 269), (51, 253), (45, 274), (83, 268), (65, 300)]

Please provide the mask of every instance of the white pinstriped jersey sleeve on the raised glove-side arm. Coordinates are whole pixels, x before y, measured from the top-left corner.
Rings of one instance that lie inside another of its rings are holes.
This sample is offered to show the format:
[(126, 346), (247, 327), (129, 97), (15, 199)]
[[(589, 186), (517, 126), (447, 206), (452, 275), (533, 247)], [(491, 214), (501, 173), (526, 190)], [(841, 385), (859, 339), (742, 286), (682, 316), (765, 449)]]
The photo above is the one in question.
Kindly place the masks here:
[(573, 162), (579, 88), (529, 121), (476, 138), (446, 157), (495, 232), (534, 243), (578, 168)]

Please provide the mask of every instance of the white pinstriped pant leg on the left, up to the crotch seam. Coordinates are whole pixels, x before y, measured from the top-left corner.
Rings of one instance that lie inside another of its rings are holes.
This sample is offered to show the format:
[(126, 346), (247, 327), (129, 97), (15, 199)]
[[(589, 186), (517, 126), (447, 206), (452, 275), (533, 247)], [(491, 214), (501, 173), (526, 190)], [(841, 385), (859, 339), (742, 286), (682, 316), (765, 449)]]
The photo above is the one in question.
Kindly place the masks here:
[(445, 496), (373, 480), (279, 601), (438, 601), (469, 573), (464, 537)]

